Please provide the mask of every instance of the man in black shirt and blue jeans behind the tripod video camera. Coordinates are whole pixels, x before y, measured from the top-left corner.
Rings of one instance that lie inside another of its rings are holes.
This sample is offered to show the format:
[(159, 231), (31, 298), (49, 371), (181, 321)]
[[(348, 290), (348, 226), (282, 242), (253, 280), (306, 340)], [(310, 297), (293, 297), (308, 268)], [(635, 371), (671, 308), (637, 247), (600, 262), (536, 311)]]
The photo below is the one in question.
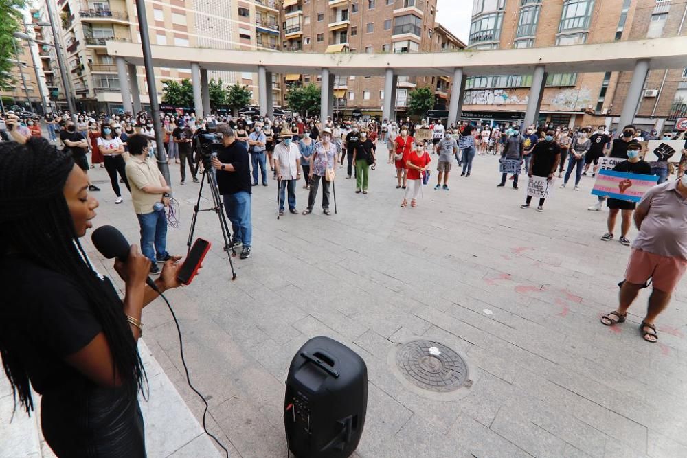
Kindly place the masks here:
[(232, 245), (240, 247), (241, 259), (251, 255), (251, 176), (248, 150), (234, 138), (229, 124), (217, 124), (217, 135), (222, 137), (222, 146), (217, 148), (217, 157), (212, 157), (212, 166), (217, 170), (217, 187), (224, 197), (224, 207), (232, 222), (234, 240)]

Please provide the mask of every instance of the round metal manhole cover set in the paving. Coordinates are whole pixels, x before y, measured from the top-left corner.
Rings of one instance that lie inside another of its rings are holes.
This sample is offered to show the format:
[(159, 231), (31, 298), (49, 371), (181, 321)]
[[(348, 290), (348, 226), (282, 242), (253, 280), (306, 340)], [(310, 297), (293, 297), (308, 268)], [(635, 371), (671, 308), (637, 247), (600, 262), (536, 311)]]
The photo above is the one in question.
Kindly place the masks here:
[(398, 348), (396, 365), (414, 385), (445, 393), (462, 387), (468, 369), (463, 358), (434, 341), (412, 341)]

